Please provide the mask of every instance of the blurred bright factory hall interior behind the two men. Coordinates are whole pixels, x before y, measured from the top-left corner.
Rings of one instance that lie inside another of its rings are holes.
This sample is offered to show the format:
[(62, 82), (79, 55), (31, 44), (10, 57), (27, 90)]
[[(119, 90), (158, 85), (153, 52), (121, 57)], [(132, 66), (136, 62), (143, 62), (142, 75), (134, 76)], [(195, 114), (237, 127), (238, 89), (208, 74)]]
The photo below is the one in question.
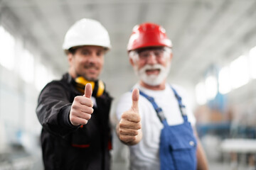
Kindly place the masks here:
[[(43, 169), (37, 99), (67, 72), (63, 39), (80, 18), (110, 34), (100, 79), (114, 97), (113, 122), (118, 98), (138, 81), (126, 50), (132, 28), (158, 23), (174, 45), (168, 82), (188, 93), (210, 169), (255, 169), (255, 0), (0, 0), (0, 170)], [(129, 169), (113, 137), (112, 169)]]

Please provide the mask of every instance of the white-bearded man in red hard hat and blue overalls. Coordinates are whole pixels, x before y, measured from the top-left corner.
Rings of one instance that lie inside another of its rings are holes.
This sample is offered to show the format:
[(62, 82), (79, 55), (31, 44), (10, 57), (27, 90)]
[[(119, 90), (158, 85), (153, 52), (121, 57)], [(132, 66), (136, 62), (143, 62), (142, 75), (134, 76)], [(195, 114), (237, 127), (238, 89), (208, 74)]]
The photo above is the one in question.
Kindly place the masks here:
[(208, 169), (186, 93), (166, 82), (171, 48), (155, 23), (135, 26), (129, 38), (129, 62), (139, 82), (117, 104), (116, 132), (129, 146), (130, 169)]

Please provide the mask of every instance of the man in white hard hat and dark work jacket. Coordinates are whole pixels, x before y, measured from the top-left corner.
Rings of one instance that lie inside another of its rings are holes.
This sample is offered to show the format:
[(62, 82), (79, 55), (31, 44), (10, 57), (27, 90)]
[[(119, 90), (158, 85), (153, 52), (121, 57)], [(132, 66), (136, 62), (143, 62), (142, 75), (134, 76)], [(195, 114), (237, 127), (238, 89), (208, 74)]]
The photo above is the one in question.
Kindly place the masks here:
[(99, 79), (110, 37), (98, 21), (82, 18), (65, 35), (68, 73), (38, 97), (45, 169), (110, 169), (112, 97)]

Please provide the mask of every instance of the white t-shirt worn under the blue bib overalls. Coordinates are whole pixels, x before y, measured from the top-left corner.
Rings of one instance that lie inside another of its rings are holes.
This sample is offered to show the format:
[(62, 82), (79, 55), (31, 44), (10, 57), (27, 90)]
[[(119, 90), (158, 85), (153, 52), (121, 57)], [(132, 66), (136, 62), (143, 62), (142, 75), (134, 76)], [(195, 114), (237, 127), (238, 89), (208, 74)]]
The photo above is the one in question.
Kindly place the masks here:
[[(178, 95), (182, 98), (183, 105), (186, 106), (188, 121), (191, 125), (195, 125), (196, 119), (189, 109), (186, 102), (186, 96), (183, 89), (179, 86), (173, 86)], [(144, 94), (154, 98), (156, 104), (162, 108), (163, 113), (169, 125), (178, 125), (183, 123), (183, 118), (178, 107), (178, 101), (169, 84), (166, 84), (166, 89), (161, 91), (152, 91), (145, 89), (139, 84), (134, 88), (143, 91)], [(128, 111), (132, 106), (132, 92), (129, 91), (122, 95), (117, 103), (117, 118), (121, 119), (122, 113)], [(130, 169), (136, 170), (156, 170), (159, 166), (159, 138), (163, 128), (156, 111), (152, 104), (143, 96), (139, 96), (139, 114), (142, 118), (142, 140), (137, 145), (129, 146), (130, 151)]]

